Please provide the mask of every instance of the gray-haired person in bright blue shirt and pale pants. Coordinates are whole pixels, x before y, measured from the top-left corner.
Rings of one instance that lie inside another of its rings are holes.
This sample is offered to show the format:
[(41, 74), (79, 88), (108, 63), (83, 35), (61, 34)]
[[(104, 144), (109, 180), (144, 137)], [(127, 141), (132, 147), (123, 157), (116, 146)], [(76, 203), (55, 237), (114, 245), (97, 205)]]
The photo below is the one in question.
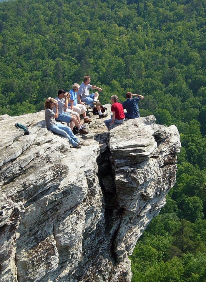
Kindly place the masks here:
[(73, 110), (77, 112), (79, 115), (83, 115), (84, 122), (91, 122), (92, 120), (89, 120), (89, 118), (86, 115), (87, 108), (84, 106), (84, 103), (77, 104), (77, 92), (79, 91), (80, 85), (78, 83), (74, 83), (72, 85), (72, 89), (69, 91), (69, 94), (71, 94), (70, 102), (68, 103), (68, 108), (70, 110)]

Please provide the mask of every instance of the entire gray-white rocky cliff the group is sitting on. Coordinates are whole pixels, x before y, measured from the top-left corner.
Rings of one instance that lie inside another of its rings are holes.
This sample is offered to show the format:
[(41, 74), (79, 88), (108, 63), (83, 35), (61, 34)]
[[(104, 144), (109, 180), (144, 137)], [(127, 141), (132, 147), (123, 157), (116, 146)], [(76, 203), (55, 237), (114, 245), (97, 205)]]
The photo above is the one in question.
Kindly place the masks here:
[(128, 255), (175, 183), (179, 134), (153, 116), (88, 126), (74, 149), (44, 111), (0, 117), (0, 281), (131, 280)]

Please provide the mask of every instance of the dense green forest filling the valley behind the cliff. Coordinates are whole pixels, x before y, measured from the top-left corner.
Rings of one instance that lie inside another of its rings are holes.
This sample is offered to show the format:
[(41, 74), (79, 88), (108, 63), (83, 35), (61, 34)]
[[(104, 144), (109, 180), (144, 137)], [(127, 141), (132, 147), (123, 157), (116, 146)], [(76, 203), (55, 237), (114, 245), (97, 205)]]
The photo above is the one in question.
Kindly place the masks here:
[(204, 0), (0, 3), (0, 115), (44, 108), (90, 75), (102, 103), (144, 95), (142, 116), (175, 124), (177, 182), (131, 257), (133, 282), (206, 281)]

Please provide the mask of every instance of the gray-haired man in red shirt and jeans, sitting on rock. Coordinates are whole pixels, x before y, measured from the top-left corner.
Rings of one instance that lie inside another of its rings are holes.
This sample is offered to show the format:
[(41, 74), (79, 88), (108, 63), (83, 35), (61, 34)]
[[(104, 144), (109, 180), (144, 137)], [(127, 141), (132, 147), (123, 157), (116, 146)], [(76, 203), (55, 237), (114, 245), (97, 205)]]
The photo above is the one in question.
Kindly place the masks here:
[(111, 96), (111, 102), (112, 102), (111, 119), (104, 121), (104, 123), (105, 123), (105, 125), (107, 125), (108, 129), (109, 129), (109, 125), (111, 125), (113, 123), (120, 124), (124, 121), (124, 118), (125, 118), (122, 104), (118, 103), (117, 101), (118, 101), (117, 95), (112, 95)]

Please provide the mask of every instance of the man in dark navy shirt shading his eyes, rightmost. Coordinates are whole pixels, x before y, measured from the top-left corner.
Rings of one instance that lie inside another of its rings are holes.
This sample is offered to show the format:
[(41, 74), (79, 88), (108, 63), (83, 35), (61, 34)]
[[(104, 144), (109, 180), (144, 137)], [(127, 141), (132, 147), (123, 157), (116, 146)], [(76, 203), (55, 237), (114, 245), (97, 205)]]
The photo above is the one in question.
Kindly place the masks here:
[[(132, 98), (132, 96), (136, 96)], [(144, 96), (138, 94), (126, 93), (127, 100), (122, 103), (123, 109), (126, 109), (125, 117), (128, 119), (139, 117), (138, 101), (144, 99)]]

